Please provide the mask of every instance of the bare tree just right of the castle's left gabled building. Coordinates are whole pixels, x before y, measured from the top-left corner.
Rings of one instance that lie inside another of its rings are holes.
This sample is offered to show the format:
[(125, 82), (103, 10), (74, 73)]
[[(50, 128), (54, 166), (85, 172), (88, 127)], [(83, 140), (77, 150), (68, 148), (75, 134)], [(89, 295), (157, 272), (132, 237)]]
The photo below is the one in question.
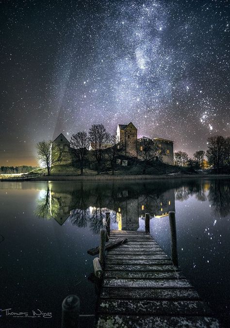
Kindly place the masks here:
[(85, 131), (73, 134), (70, 140), (71, 150), (80, 164), (81, 175), (86, 162), (89, 147), (89, 137)]

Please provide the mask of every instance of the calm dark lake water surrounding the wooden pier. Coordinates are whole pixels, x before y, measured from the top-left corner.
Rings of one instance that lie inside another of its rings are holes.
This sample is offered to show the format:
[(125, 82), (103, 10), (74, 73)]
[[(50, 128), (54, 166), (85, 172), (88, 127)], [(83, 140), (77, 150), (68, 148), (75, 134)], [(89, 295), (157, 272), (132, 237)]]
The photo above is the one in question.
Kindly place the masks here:
[[(81, 314), (94, 314), (87, 250), (99, 244), (105, 212), (111, 229), (123, 230), (144, 230), (149, 212), (150, 233), (170, 255), (170, 210), (181, 270), (230, 327), (230, 180), (0, 182), (0, 209), (0, 327), (58, 328), (71, 293)], [(36, 313), (20, 318), (5, 309)], [(51, 314), (39, 317), (39, 310)], [(93, 327), (92, 318), (82, 321)]]

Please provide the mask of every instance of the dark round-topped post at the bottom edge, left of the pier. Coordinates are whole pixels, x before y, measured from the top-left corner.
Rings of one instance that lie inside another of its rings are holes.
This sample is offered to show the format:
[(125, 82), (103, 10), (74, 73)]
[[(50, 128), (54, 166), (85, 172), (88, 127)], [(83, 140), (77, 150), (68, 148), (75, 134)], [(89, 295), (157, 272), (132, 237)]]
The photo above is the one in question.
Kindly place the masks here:
[(68, 295), (62, 302), (62, 328), (78, 328), (80, 299), (77, 295)]

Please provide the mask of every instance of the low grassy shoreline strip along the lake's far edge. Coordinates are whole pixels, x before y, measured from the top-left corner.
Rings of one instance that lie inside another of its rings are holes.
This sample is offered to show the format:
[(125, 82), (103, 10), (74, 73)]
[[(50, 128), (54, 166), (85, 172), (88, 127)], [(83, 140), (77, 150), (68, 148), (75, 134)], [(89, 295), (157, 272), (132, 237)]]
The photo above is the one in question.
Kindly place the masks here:
[(178, 175), (50, 175), (32, 178), (30, 181), (130, 181), (130, 180), (172, 180), (172, 179), (197, 179), (197, 178), (229, 178), (229, 174), (178, 174)]

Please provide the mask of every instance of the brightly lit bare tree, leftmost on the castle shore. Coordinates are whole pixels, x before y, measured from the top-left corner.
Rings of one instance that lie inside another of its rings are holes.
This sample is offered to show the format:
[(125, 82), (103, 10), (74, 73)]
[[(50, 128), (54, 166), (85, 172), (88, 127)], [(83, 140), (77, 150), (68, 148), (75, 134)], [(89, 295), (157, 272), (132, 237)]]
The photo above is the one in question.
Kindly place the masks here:
[(54, 164), (60, 162), (61, 159), (61, 150), (60, 147), (52, 142), (49, 141), (40, 141), (36, 144), (38, 160), (46, 165), (47, 173), (50, 175), (51, 167)]

